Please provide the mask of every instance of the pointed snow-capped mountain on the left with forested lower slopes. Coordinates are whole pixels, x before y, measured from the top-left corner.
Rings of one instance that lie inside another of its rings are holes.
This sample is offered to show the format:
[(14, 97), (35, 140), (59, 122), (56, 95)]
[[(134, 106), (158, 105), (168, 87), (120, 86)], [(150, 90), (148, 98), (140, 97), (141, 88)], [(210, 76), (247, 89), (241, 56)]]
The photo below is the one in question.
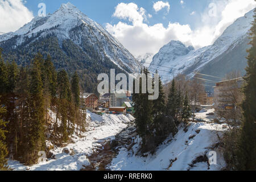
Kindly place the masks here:
[[(4, 55), (24, 64), (31, 55), (50, 54), (57, 68), (84, 69), (96, 73), (101, 67), (137, 72), (141, 64), (100, 24), (71, 3), (45, 17), (32, 19), (16, 32), (0, 36)], [(97, 79), (97, 77), (96, 77)]]

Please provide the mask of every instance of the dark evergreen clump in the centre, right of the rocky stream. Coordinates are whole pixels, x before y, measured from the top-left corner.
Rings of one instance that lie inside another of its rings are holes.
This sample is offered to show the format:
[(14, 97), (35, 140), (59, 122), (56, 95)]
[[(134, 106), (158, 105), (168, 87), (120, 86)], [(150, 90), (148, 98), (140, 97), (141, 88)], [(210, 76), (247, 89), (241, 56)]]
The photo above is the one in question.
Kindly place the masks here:
[[(148, 69), (144, 68), (142, 73), (146, 75), (147, 80)], [(139, 78), (139, 83), (142, 90), (142, 78)], [(187, 123), (191, 117), (188, 93), (176, 88), (175, 79), (168, 92), (167, 102), (160, 77), (158, 99), (148, 100), (148, 96), (150, 96), (148, 92), (133, 94), (134, 117), (137, 132), (142, 138), (142, 153), (154, 151), (171, 133), (173, 135), (177, 133), (179, 123)]]

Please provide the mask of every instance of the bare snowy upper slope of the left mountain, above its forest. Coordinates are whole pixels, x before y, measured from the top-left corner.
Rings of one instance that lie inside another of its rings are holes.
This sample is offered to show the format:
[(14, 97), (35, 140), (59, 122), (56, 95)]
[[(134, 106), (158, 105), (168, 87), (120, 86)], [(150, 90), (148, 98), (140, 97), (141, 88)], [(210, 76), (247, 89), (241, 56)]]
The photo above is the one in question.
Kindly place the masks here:
[(24, 43), (27, 38), (31, 38), (38, 33), (41, 35), (37, 39), (50, 34), (56, 35), (60, 46), (63, 40), (72, 40), (85, 52), (84, 43), (86, 42), (93, 48), (89, 53), (93, 51), (95, 54), (100, 55), (102, 59), (105, 56), (109, 57), (119, 68), (127, 68), (130, 72), (138, 71), (140, 66), (133, 55), (110, 35), (105, 28), (82, 14), (71, 3), (61, 5), (59, 10), (53, 14), (48, 14), (46, 17), (37, 16), (14, 32), (13, 36), (0, 36), (0, 43), (14, 38), (14, 35), (16, 35), (18, 38), (13, 46), (15, 48)]

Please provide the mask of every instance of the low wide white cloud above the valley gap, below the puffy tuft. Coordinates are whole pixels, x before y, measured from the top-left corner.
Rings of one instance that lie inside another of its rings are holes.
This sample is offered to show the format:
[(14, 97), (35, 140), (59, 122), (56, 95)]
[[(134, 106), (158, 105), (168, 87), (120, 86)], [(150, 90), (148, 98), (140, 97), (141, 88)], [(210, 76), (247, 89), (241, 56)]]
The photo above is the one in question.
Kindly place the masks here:
[(106, 25), (106, 29), (112, 33), (135, 56), (144, 53), (156, 53), (160, 47), (170, 40), (186, 41), (191, 33), (188, 25), (170, 23), (167, 28), (162, 23), (148, 26), (146, 23), (129, 25), (123, 22)]

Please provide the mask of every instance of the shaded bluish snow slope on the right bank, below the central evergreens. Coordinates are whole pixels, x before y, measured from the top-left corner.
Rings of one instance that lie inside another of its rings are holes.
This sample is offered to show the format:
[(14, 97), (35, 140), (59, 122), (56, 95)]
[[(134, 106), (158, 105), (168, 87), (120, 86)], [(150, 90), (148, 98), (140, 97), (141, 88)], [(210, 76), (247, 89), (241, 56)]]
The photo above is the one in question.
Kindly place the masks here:
[[(190, 123), (185, 132), (183, 127), (180, 127), (179, 132), (174, 138), (168, 138), (161, 146), (159, 146), (155, 155), (149, 154), (146, 158), (135, 156), (136, 151), (139, 148), (138, 141), (134, 147), (133, 152), (127, 151), (126, 148), (122, 148), (116, 158), (112, 160), (109, 168), (112, 170), (135, 170), (135, 171), (205, 171), (205, 170), (220, 170), (225, 166), (224, 159), (221, 152), (217, 153), (217, 164), (210, 165), (208, 168), (207, 162), (200, 162), (191, 165), (193, 160), (199, 156), (209, 156), (209, 151), (212, 151), (210, 147), (218, 143), (217, 132), (221, 133), (222, 125), (213, 123)], [(197, 134), (200, 130), (200, 133)], [(195, 135), (195, 136), (194, 136)], [(190, 137), (190, 139), (189, 139)], [(139, 140), (138, 138), (136, 140)], [(171, 140), (171, 141), (170, 141)], [(174, 162), (171, 164), (171, 160)], [(171, 167), (170, 167), (171, 166)]]

